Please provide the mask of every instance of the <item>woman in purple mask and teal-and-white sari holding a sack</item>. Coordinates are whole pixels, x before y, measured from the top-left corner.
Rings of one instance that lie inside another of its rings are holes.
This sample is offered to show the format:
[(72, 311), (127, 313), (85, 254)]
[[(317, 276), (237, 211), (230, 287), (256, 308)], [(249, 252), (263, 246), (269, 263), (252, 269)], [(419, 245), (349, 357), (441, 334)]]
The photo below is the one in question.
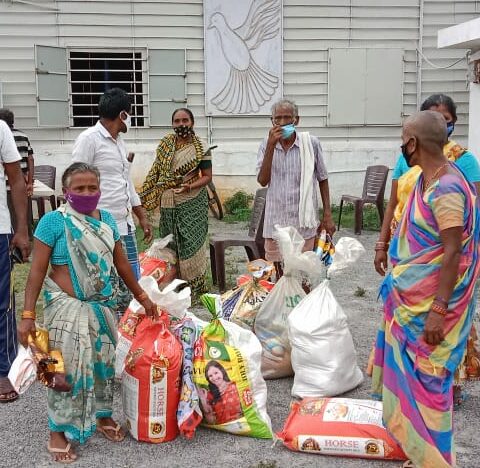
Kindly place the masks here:
[(63, 174), (67, 203), (43, 216), (35, 231), (18, 328), (25, 345), (35, 333), (35, 304), (43, 284), (50, 348), (62, 352), (72, 386), (70, 392), (47, 390), (48, 451), (60, 463), (77, 458), (69, 440), (84, 443), (95, 431), (113, 442), (125, 437), (112, 419), (115, 269), (146, 313), (156, 314), (134, 277), (113, 217), (96, 208), (99, 183), (98, 170), (88, 164), (74, 163)]

